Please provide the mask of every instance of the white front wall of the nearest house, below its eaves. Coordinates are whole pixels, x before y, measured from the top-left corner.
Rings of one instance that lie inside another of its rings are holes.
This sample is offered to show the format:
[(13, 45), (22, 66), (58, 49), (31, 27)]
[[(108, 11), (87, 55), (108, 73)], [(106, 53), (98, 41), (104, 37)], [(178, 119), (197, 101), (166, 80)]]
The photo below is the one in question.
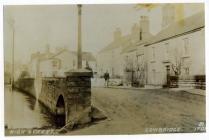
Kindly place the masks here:
[[(188, 39), (188, 51), (184, 51), (184, 39)], [(168, 44), (168, 45), (166, 45)], [(159, 42), (146, 47), (148, 64), (148, 84), (163, 85), (166, 82), (166, 67), (163, 62), (169, 60), (175, 63), (175, 57), (188, 59), (189, 75), (205, 74), (205, 44), (204, 29)], [(154, 48), (154, 58), (153, 58)], [(167, 52), (167, 53), (166, 53)], [(184, 65), (184, 64), (183, 64)], [(184, 75), (182, 66), (181, 75)], [(173, 74), (171, 69), (171, 74)]]

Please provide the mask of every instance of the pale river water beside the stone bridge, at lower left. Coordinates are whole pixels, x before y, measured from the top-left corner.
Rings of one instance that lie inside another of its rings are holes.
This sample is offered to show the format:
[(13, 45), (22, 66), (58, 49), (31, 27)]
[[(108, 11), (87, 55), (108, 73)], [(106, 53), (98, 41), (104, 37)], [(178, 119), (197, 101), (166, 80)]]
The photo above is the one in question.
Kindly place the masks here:
[(5, 127), (53, 128), (55, 119), (35, 98), (5, 86)]

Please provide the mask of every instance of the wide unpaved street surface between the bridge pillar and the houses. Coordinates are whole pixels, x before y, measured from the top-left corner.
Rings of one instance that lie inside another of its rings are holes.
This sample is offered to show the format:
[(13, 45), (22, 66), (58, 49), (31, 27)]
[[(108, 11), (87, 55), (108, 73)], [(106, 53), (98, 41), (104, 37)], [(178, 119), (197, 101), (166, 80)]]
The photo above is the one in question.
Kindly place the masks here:
[(151, 128), (195, 132), (205, 122), (205, 96), (183, 91), (93, 88), (92, 104), (108, 119), (69, 135), (155, 133)]

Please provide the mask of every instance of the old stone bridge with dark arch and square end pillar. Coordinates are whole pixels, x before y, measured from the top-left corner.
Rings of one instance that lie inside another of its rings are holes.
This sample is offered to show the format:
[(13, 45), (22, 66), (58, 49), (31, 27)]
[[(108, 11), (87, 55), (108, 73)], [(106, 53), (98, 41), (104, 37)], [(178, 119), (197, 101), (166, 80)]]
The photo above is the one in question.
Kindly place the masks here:
[(65, 77), (45, 77), (41, 80), (22, 78), (16, 87), (33, 95), (49, 108), (57, 116), (60, 127), (88, 123), (91, 121), (92, 73), (77, 70), (65, 74)]

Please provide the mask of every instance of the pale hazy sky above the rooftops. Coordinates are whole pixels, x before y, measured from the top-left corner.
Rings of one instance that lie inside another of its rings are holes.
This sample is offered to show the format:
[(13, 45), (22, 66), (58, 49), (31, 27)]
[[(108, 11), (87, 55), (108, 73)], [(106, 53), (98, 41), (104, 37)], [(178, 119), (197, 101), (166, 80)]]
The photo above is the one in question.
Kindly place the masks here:
[[(150, 32), (161, 30), (161, 6), (148, 12), (137, 10), (135, 5), (83, 5), (82, 7), (82, 49), (98, 52), (113, 40), (113, 32), (121, 28), (122, 34), (129, 34), (131, 27), (139, 23), (141, 15), (150, 19)], [(202, 5), (185, 4), (185, 16), (202, 9)], [(12, 24), (14, 21), (14, 24)], [(15, 60), (28, 63), (31, 53), (56, 47), (77, 48), (77, 6), (76, 5), (30, 5), (4, 6), (4, 54), (11, 61), (14, 31)]]

